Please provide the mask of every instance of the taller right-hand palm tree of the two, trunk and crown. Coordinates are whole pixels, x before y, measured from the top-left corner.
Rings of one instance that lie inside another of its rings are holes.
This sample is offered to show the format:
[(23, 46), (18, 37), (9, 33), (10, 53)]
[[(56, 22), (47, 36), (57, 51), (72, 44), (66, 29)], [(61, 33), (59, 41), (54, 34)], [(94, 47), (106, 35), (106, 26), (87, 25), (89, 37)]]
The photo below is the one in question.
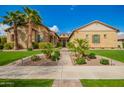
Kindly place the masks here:
[(41, 24), (41, 18), (36, 10), (32, 10), (28, 7), (24, 7), (26, 21), (28, 23), (28, 45), (27, 48), (32, 48), (32, 26), (38, 26)]

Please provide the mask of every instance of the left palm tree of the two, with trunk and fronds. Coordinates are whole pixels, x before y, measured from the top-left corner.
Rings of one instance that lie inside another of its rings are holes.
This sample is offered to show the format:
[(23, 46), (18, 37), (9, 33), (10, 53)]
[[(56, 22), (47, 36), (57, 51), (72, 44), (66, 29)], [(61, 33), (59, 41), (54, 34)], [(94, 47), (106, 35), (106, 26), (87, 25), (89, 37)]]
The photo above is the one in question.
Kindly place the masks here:
[(14, 29), (14, 49), (18, 49), (18, 32), (17, 28), (23, 25), (24, 22), (24, 14), (20, 11), (7, 12), (6, 16), (3, 16), (3, 24), (8, 24)]

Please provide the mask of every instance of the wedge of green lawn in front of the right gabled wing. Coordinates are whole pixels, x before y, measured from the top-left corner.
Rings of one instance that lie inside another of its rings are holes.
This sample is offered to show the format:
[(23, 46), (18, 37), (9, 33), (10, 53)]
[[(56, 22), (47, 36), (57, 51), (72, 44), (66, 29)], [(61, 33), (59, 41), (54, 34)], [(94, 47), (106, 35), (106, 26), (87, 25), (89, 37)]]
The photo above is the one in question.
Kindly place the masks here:
[(90, 50), (90, 52), (124, 62), (124, 50)]

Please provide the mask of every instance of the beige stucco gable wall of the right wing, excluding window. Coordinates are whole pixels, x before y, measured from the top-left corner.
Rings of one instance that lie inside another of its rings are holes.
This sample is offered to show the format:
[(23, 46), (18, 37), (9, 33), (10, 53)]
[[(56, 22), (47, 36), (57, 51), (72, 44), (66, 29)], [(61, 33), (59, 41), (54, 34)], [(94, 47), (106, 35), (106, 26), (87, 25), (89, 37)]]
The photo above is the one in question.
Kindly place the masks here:
[[(100, 35), (100, 43), (93, 43), (92, 36)], [(106, 38), (104, 35), (106, 34)], [(86, 38), (88, 35), (88, 38)], [(117, 31), (101, 24), (92, 24), (74, 32), (70, 41), (87, 39), (91, 48), (117, 48)]]

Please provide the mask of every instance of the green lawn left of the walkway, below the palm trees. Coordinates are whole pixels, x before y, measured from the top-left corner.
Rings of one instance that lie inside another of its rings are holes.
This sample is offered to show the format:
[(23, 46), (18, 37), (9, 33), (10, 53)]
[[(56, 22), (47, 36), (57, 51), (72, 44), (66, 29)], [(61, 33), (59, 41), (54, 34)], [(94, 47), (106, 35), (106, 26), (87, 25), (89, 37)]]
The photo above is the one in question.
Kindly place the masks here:
[(41, 51), (11, 51), (11, 52), (0, 51), (0, 66), (11, 63), (17, 59), (38, 53), (41, 53)]

